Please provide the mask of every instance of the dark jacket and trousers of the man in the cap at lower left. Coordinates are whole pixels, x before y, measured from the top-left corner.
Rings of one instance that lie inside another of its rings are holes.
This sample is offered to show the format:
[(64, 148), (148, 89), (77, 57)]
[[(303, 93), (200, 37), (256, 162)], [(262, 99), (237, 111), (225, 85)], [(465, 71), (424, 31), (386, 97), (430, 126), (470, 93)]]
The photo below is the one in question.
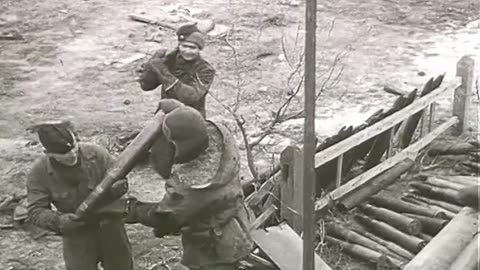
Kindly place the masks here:
[[(29, 221), (60, 233), (60, 213), (74, 213), (82, 201), (104, 178), (113, 158), (106, 150), (79, 143), (79, 161), (62, 166), (47, 156), (33, 166), (27, 181)], [(107, 194), (100, 205), (114, 201)], [(53, 211), (51, 205), (58, 211)], [(62, 235), (67, 270), (131, 270), (130, 243), (122, 217), (91, 215), (85, 225)]]

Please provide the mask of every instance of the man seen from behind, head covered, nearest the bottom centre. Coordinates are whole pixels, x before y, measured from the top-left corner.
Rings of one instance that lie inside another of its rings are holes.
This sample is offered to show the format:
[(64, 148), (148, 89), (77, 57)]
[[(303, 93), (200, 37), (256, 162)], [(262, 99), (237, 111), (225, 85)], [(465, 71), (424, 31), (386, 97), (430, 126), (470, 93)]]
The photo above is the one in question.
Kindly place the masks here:
[(234, 139), (176, 100), (162, 100), (159, 109), (166, 116), (151, 158), (166, 194), (158, 203), (132, 198), (127, 222), (153, 227), (157, 237), (181, 234), (189, 269), (237, 269), (252, 240)]

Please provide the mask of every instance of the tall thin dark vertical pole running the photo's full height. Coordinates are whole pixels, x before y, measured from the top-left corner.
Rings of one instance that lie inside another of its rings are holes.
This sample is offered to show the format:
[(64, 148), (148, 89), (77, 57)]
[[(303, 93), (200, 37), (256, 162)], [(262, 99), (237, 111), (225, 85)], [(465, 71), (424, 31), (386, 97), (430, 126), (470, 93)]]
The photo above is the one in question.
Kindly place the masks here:
[(305, 125), (303, 133), (303, 270), (315, 268), (315, 66), (317, 0), (305, 6)]

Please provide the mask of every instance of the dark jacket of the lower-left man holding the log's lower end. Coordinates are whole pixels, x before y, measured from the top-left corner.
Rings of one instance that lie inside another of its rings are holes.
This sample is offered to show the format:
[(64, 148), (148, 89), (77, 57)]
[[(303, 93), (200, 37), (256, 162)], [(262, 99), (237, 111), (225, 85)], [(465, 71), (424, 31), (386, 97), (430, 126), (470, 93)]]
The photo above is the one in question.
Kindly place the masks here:
[[(47, 156), (34, 164), (28, 175), (28, 214), (33, 224), (58, 231), (58, 212), (74, 213), (83, 200), (105, 177), (114, 160), (96, 145), (79, 143), (79, 163), (73, 167), (61, 166)], [(114, 201), (106, 194), (101, 204)]]

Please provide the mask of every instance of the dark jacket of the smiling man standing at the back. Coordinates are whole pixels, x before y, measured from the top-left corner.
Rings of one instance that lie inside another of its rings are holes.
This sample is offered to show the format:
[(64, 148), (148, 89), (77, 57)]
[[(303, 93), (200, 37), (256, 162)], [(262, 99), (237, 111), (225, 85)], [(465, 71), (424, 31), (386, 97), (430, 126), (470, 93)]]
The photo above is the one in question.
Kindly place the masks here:
[[(155, 59), (159, 61), (152, 61)], [(214, 77), (215, 69), (203, 58), (185, 61), (175, 50), (162, 58), (152, 57), (145, 65), (140, 85), (145, 91), (162, 85), (162, 98), (177, 99), (205, 117), (205, 97)]]

